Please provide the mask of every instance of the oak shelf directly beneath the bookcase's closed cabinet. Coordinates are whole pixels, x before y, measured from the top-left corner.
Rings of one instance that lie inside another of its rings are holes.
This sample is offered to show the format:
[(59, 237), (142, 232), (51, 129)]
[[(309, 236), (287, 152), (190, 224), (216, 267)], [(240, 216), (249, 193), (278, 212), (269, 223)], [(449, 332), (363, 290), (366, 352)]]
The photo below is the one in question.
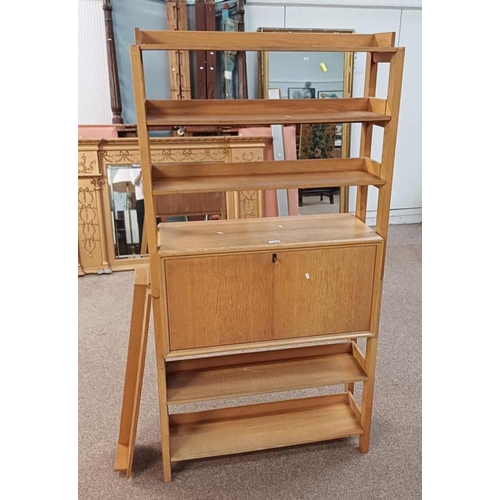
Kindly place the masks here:
[(167, 403), (193, 403), (367, 380), (356, 344), (172, 361)]

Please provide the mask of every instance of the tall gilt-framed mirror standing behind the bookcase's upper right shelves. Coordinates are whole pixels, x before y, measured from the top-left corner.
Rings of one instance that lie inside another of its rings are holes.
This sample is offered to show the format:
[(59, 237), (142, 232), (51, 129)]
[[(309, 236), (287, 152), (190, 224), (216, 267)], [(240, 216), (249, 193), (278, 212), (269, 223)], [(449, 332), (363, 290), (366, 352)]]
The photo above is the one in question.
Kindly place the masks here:
[[(328, 32), (353, 33), (354, 30), (258, 28), (260, 32)], [(336, 99), (352, 97), (352, 52), (260, 52), (259, 97), (266, 99), (269, 89), (279, 89), (282, 99)], [(296, 126), (297, 157), (348, 158), (351, 126), (347, 123), (309, 124)], [(347, 187), (324, 186), (318, 189), (299, 189), (299, 213), (311, 213), (304, 198), (315, 196), (333, 204), (332, 210), (348, 211)], [(302, 209), (300, 207), (303, 207)], [(320, 210), (330, 211), (329, 207)]]

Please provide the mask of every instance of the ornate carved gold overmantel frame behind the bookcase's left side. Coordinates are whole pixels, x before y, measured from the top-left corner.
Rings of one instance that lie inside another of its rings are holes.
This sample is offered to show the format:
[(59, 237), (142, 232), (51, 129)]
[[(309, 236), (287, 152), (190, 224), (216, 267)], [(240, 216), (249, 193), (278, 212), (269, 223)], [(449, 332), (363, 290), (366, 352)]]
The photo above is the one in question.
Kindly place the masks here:
[[(186, 137), (151, 139), (152, 161), (247, 162), (262, 161), (267, 137)], [(138, 139), (78, 140), (78, 274), (131, 270), (147, 262), (147, 256), (115, 257), (108, 165), (140, 163)], [(227, 218), (262, 217), (262, 193), (226, 193)]]

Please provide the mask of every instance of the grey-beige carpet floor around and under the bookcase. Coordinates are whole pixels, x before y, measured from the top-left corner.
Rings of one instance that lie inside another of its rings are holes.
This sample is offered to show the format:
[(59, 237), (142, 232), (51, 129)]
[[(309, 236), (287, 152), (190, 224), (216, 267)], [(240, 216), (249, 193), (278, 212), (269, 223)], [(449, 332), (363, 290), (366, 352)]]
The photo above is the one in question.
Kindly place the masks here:
[(421, 238), (420, 224), (390, 226), (369, 453), (360, 453), (357, 438), (349, 438), (181, 462), (170, 484), (162, 481), (152, 329), (133, 477), (113, 470), (133, 272), (78, 278), (79, 499), (420, 499)]

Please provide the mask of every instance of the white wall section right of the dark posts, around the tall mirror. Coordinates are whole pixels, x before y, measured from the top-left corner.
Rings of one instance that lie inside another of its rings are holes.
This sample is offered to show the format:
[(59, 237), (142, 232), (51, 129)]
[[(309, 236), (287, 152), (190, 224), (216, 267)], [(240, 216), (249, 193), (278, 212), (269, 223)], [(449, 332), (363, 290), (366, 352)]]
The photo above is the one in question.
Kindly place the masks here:
[[(305, 6), (305, 4), (308, 4)], [(326, 6), (325, 4), (328, 4)], [(340, 5), (340, 6), (339, 6)], [(372, 7), (375, 6), (375, 7)], [(402, 8), (404, 7), (404, 8)], [(330, 0), (248, 0), (245, 28), (259, 27), (354, 29), (357, 33), (394, 31), (396, 45), (406, 48), (403, 92), (399, 118), (394, 184), (391, 200), (391, 223), (422, 221), (422, 10), (414, 0), (330, 1)], [(257, 96), (256, 57), (249, 61), (249, 95)], [(386, 97), (388, 71), (379, 67), (379, 97)], [(365, 55), (356, 54), (353, 95), (363, 95)], [(253, 75), (251, 78), (250, 75)], [(352, 127), (352, 154), (359, 154), (361, 127)], [(382, 129), (375, 127), (373, 157), (380, 159)], [(349, 209), (355, 208), (355, 188), (351, 189)], [(376, 188), (370, 187), (368, 222), (374, 223), (377, 206)]]

